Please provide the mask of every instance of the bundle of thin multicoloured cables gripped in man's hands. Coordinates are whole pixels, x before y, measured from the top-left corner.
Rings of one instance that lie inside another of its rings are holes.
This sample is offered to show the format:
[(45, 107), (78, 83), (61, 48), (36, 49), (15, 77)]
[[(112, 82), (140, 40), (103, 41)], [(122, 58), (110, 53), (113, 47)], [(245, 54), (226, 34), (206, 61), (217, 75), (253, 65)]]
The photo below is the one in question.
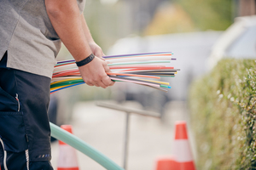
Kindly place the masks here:
[[(169, 82), (160, 82), (155, 79), (175, 77), (175, 74), (179, 71), (179, 69), (166, 65), (154, 65), (166, 64), (170, 63), (171, 60), (176, 60), (172, 58), (172, 53), (169, 52), (110, 55), (103, 58), (106, 59), (112, 71), (107, 72), (107, 74), (113, 82), (132, 82), (164, 92), (167, 92), (166, 88), (171, 88)], [(80, 84), (84, 84), (84, 81), (75, 60), (57, 62), (50, 83), (51, 94)]]

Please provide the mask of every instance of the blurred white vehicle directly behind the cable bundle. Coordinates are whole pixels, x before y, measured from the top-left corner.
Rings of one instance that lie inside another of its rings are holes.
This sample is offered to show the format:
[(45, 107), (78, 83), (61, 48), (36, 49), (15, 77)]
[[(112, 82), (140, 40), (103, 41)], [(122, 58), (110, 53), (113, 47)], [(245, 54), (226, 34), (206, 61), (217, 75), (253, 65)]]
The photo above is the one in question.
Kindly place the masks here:
[(169, 66), (181, 71), (176, 77), (162, 79), (172, 87), (167, 94), (136, 84), (116, 83), (113, 87), (116, 100), (137, 100), (145, 109), (159, 112), (170, 100), (186, 100), (189, 83), (207, 71), (207, 58), (221, 33), (203, 31), (120, 39), (109, 49), (109, 55), (171, 51), (177, 60), (172, 60)]

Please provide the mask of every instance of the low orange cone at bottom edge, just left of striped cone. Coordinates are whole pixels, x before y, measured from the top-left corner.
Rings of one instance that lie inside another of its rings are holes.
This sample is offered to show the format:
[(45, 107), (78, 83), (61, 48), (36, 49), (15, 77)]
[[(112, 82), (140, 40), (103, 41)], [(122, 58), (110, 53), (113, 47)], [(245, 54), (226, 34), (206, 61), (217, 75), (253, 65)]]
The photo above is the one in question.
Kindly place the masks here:
[(161, 157), (157, 160), (156, 170), (172, 170), (176, 169), (177, 162), (173, 156)]

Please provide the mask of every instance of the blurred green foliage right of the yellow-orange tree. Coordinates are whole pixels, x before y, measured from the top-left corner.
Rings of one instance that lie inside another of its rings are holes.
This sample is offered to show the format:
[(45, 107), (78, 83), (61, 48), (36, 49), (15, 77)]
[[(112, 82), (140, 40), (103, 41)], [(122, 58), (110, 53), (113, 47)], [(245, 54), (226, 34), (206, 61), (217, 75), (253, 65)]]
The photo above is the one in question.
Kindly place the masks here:
[(200, 31), (224, 31), (234, 20), (236, 2), (232, 0), (175, 0), (189, 14)]

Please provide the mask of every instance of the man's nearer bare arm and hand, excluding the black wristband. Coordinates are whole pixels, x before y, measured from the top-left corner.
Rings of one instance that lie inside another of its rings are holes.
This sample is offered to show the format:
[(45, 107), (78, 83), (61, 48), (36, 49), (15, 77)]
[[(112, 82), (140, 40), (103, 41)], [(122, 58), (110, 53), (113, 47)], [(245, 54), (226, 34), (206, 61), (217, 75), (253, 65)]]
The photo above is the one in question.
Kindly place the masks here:
[[(76, 61), (87, 58), (91, 53), (90, 44), (84, 34), (83, 22), (76, 0), (45, 0), (49, 20), (61, 41)], [(110, 71), (107, 63), (95, 58), (89, 64), (79, 67), (81, 76), (90, 86), (107, 88), (113, 82), (106, 72)]]

